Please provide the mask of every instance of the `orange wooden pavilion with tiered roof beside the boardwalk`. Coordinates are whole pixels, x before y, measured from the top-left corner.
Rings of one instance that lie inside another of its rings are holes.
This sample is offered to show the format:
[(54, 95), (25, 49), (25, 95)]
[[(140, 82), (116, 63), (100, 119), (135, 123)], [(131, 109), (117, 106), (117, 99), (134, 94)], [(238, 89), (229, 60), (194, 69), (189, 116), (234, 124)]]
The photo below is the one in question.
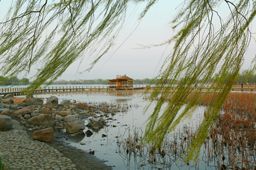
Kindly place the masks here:
[(127, 76), (116, 75), (116, 79), (109, 80), (110, 88), (133, 87), (133, 79)]

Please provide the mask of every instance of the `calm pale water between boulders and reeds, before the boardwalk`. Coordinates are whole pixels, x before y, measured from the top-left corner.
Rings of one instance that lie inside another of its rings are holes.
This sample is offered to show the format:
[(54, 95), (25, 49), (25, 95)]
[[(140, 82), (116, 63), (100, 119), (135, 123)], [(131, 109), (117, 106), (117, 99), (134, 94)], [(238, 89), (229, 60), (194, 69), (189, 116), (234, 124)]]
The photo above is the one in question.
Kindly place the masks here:
[[(126, 112), (118, 112), (114, 115), (109, 114), (108, 118), (112, 118), (107, 120), (109, 126), (104, 127), (98, 132), (94, 132), (91, 128), (86, 127), (84, 132), (91, 130), (93, 132), (92, 136), (70, 135), (68, 136), (68, 140), (63, 139), (63, 142), (66, 142), (66, 144), (70, 144), (85, 152), (95, 151), (94, 155), (105, 161), (106, 165), (112, 166), (113, 169), (194, 169), (196, 167), (195, 165), (186, 165), (178, 159), (175, 161), (164, 160), (166, 158), (159, 158), (158, 162), (153, 164), (148, 161), (150, 156), (146, 153), (141, 157), (138, 154), (126, 153), (125, 145), (123, 145), (122, 142), (126, 141), (125, 138), (129, 137), (129, 133), (131, 136), (134, 136), (134, 132), (138, 133), (140, 136), (143, 135), (146, 125), (145, 122), (154, 109), (153, 105), (148, 109), (145, 115), (142, 114), (146, 102), (140, 90), (45, 92), (34, 94), (34, 97), (45, 98), (46, 102), (46, 98), (51, 95), (57, 96), (59, 103), (62, 100), (71, 100), (71, 102), (75, 100), (76, 102), (90, 102), (95, 104), (106, 102), (113, 105), (129, 106), (130, 109)], [(182, 131), (184, 127), (187, 126), (195, 131), (202, 121), (202, 113), (203, 108), (198, 108), (191, 119), (186, 119), (184, 122), (180, 123), (177, 127), (177, 131)], [(99, 116), (101, 113), (97, 113), (97, 115)], [(84, 119), (85, 125), (89, 123), (89, 118), (92, 117)], [(116, 127), (113, 127), (113, 125)], [(102, 134), (107, 136), (102, 137)], [(81, 145), (80, 142), (86, 144)], [(206, 166), (206, 162), (200, 165), (200, 167), (204, 169), (215, 169), (211, 166)]]

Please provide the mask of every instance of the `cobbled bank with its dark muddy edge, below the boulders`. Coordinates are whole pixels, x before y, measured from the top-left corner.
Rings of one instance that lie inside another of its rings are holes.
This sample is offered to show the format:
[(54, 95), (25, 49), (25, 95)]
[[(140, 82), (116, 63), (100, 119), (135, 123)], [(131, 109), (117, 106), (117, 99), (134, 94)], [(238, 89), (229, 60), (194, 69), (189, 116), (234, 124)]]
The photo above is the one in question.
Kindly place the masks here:
[[(81, 153), (77, 148), (63, 145), (56, 136), (51, 143), (33, 140), (33, 132), (28, 132), (28, 128), (19, 120), (12, 120), (13, 128), (0, 132), (0, 156), (8, 169), (112, 169), (89, 153)], [(54, 131), (56, 134), (59, 134), (57, 130)]]

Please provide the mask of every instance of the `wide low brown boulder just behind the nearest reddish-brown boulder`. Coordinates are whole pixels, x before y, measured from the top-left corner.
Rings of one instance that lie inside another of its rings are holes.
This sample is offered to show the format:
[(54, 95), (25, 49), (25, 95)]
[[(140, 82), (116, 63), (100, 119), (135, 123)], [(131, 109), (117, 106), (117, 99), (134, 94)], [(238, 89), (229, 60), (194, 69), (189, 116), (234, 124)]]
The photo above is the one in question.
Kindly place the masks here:
[(52, 127), (54, 125), (54, 117), (50, 114), (40, 114), (35, 117), (31, 117), (28, 119), (28, 123), (34, 126), (49, 126)]

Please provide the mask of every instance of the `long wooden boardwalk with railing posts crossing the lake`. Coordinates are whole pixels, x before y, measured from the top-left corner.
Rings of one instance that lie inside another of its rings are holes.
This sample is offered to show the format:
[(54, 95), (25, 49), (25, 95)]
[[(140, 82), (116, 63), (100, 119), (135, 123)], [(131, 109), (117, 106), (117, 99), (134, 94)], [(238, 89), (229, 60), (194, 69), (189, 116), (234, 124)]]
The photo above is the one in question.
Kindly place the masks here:
[[(38, 89), (34, 90), (34, 93), (36, 92), (52, 92), (52, 91), (77, 91), (77, 90), (140, 90), (140, 89), (146, 89), (149, 88), (146, 85), (136, 85), (135, 87), (122, 87), (122, 88), (101, 88), (100, 86), (73, 86), (73, 87), (48, 87), (48, 88), (41, 88), (39, 87)], [(155, 88), (150, 87), (150, 88)], [(177, 87), (174, 87), (174, 89)], [(192, 87), (191, 87), (192, 88)], [(193, 87), (193, 88), (201, 88), (202, 90), (211, 90), (212, 88), (210, 87)], [(2, 89), (0, 92), (0, 95), (6, 95), (6, 94), (13, 94), (13, 95), (25, 95), (26, 92), (29, 91), (27, 88), (7, 88), (7, 89)], [(241, 85), (236, 85), (232, 88), (231, 91), (256, 91), (256, 85), (244, 85), (243, 88), (241, 88)]]

